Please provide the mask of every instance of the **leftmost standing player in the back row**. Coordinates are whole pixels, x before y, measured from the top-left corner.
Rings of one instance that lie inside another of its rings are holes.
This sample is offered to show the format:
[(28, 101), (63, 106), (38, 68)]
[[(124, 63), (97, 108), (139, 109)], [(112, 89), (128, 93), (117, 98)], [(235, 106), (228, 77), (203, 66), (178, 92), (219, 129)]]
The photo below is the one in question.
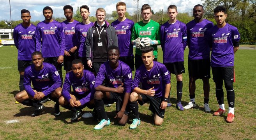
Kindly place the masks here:
[(33, 64), (31, 54), (35, 51), (35, 30), (36, 27), (30, 23), (31, 15), (29, 10), (21, 10), (22, 23), (13, 30), (13, 40), (18, 49), (18, 70), (19, 70), (19, 91), (25, 90), (23, 85), (25, 68)]

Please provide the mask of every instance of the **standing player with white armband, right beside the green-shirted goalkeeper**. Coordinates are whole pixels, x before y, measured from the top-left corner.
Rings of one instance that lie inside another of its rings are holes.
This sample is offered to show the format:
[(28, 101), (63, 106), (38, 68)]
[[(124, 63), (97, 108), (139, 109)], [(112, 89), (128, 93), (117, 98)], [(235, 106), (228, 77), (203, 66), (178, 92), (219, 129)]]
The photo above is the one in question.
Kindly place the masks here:
[[(161, 26), (161, 42), (163, 51), (163, 62), (170, 73), (176, 75), (177, 80), (177, 104), (178, 110), (184, 110), (180, 103), (182, 98), (184, 68), (184, 50), (187, 46), (187, 27), (184, 23), (177, 20), (177, 6), (169, 5), (169, 20)], [(168, 97), (168, 103), (169, 103)], [(169, 103), (168, 106), (171, 106)]]

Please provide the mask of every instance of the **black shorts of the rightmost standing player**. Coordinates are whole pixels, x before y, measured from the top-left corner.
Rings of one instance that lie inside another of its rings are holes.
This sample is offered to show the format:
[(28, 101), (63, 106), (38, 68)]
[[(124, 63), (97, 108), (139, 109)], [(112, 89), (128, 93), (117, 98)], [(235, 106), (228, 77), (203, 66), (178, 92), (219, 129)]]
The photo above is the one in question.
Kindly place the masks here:
[(234, 66), (212, 67), (212, 79), (214, 82), (224, 80), (225, 83), (233, 83)]

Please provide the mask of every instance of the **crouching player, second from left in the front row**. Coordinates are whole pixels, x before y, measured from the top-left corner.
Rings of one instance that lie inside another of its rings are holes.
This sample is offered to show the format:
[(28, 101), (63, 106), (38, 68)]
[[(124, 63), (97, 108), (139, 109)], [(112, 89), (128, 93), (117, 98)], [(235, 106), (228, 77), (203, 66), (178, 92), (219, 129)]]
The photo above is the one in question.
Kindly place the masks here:
[(71, 122), (74, 122), (81, 116), (81, 109), (94, 108), (95, 76), (92, 72), (83, 69), (80, 59), (74, 59), (71, 68), (72, 72), (66, 74), (59, 103), (74, 112), (71, 118)]

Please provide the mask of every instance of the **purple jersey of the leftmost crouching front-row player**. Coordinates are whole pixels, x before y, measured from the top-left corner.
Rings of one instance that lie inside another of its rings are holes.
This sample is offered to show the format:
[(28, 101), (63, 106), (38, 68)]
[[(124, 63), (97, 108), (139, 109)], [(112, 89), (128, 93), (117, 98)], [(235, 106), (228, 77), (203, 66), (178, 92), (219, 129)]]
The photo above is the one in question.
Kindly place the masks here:
[(51, 94), (55, 89), (61, 86), (60, 75), (55, 66), (49, 63), (43, 63), (42, 70), (35, 70), (34, 65), (30, 65), (25, 69), (24, 73), (24, 87), (28, 94), (35, 95), (31, 87), (31, 82), (34, 89), (39, 92), (42, 91), (45, 96)]

